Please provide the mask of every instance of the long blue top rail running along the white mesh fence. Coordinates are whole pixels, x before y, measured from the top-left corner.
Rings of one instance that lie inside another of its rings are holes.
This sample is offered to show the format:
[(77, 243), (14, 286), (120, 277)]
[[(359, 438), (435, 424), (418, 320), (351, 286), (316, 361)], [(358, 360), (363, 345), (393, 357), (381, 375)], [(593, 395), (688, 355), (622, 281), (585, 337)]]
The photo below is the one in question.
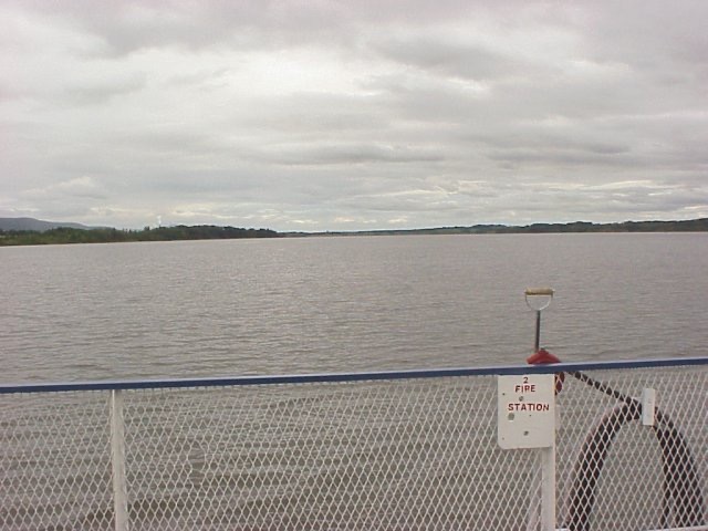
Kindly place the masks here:
[(607, 371), (625, 368), (658, 368), (708, 365), (708, 356), (614, 362), (576, 362), (551, 365), (506, 365), (468, 368), (435, 368), (409, 371), (381, 371), (362, 373), (321, 373), (279, 376), (236, 376), (173, 379), (135, 379), (105, 382), (69, 382), (44, 384), (2, 384), (0, 395), (17, 393), (61, 393), (75, 391), (159, 389), (186, 387), (228, 387), (247, 385), (278, 385), (308, 383), (373, 382), (392, 379), (420, 379), (456, 376), (501, 376), (520, 374), (554, 374), (577, 371)]

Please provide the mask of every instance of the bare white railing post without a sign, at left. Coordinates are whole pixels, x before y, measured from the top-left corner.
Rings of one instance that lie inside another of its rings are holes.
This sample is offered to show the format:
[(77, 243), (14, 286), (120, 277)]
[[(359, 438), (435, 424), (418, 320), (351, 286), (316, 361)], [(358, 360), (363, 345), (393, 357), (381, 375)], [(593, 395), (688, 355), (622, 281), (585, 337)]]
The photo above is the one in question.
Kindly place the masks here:
[(128, 497), (125, 480), (125, 427), (123, 394), (111, 391), (111, 464), (113, 466), (113, 503), (115, 530), (128, 531)]

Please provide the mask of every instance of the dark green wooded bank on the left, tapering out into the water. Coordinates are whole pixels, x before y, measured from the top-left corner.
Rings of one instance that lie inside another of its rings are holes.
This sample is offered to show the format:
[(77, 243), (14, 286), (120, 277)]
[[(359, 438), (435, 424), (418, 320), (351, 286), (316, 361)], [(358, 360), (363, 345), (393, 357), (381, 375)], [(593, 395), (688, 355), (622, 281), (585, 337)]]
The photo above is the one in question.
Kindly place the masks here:
[(227, 240), (237, 238), (275, 238), (270, 229), (239, 229), (201, 225), (159, 227), (143, 230), (74, 229), (61, 227), (40, 231), (0, 230), (0, 246), (41, 246), (59, 243), (113, 243), (122, 241)]

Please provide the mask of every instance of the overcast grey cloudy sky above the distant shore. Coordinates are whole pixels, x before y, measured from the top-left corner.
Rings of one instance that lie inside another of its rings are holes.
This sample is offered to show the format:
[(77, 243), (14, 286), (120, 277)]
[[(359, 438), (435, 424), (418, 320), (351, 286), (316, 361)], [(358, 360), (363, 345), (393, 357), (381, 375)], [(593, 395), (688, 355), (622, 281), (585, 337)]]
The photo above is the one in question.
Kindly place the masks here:
[(708, 217), (708, 2), (2, 0), (0, 217)]

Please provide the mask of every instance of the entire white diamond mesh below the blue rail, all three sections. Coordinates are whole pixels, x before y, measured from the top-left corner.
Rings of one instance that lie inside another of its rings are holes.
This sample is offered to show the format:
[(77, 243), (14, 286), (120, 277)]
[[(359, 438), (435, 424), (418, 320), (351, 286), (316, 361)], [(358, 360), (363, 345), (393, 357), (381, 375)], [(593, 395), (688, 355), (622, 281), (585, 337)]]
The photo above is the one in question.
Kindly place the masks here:
[[(708, 365), (587, 376), (558, 397), (558, 527), (705, 524)], [(656, 428), (623, 402), (644, 388)], [(539, 451), (499, 448), (491, 374), (121, 394), (131, 530), (538, 529)], [(0, 529), (114, 528), (110, 404), (0, 396)]]

